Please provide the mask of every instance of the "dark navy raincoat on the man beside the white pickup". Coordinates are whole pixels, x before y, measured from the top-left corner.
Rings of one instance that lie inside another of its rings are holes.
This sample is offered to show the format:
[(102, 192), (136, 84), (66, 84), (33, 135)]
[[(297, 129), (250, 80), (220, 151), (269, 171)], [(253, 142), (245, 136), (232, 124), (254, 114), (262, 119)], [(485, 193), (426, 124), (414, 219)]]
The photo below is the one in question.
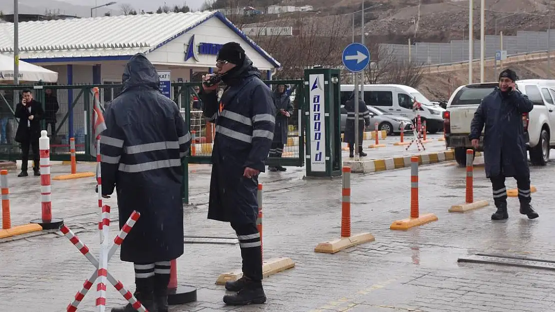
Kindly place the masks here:
[(518, 90), (507, 94), (496, 88), (482, 100), (474, 113), (468, 138), (480, 139), (485, 126), (483, 146), (486, 177), (530, 175), (522, 114), (533, 108), (534, 104), (528, 96)]

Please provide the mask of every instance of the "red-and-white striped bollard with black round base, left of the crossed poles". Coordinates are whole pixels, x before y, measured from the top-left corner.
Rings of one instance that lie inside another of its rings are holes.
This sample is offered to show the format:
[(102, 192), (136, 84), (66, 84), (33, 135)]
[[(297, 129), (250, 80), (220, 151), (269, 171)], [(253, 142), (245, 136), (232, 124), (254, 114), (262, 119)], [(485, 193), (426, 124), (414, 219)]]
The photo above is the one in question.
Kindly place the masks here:
[(52, 218), (52, 187), (50, 179), (50, 138), (46, 130), (41, 131), (41, 137), (38, 139), (39, 168), (41, 168), (41, 219), (31, 221), (38, 223), (43, 229), (58, 229), (64, 221), (62, 219)]

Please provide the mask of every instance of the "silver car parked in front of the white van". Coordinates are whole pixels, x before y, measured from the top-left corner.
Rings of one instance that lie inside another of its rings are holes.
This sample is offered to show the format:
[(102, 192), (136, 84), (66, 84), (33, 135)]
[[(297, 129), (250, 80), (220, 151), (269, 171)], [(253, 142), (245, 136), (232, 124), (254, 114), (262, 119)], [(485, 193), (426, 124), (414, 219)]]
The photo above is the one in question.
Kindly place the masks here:
[[(387, 131), (387, 135), (401, 133), (401, 123), (404, 128), (403, 132), (411, 130), (412, 121), (407, 117), (395, 115), (370, 105), (366, 105), (366, 108), (370, 112), (370, 126), (366, 127), (366, 131), (376, 130), (376, 122), (378, 123), (378, 130)], [(347, 110), (345, 105), (341, 105), (341, 132), (345, 131), (346, 123)]]

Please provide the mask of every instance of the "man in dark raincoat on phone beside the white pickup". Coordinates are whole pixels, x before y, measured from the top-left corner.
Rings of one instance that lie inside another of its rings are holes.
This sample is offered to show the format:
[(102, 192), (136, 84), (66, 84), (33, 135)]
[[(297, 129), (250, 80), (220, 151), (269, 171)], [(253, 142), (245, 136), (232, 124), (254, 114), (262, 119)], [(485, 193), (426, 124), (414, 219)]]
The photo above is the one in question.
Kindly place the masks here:
[(482, 129), (486, 166), (486, 177), (490, 178), (493, 188), (493, 201), (497, 211), (492, 220), (509, 217), (507, 213), (507, 188), (505, 178), (517, 180), (520, 213), (528, 218), (539, 217), (530, 203), (530, 170), (526, 152), (526, 137), (522, 126), (522, 114), (530, 112), (534, 104), (522, 94), (514, 81), (517, 74), (510, 69), (499, 74), (499, 87), (483, 98), (472, 119), (471, 133), (468, 136), (477, 148)]

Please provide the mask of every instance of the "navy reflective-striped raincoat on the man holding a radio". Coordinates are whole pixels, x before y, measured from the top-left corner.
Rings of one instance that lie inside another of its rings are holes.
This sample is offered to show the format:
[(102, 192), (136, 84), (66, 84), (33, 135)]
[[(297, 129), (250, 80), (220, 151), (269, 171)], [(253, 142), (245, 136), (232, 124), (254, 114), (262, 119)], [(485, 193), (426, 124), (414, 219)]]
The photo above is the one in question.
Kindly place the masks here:
[(242, 226), (256, 222), (258, 176), (243, 176), (246, 167), (264, 172), (275, 129), (272, 92), (246, 57), (228, 71), (220, 99), (215, 91), (200, 97), (204, 116), (216, 124), (208, 218)]

